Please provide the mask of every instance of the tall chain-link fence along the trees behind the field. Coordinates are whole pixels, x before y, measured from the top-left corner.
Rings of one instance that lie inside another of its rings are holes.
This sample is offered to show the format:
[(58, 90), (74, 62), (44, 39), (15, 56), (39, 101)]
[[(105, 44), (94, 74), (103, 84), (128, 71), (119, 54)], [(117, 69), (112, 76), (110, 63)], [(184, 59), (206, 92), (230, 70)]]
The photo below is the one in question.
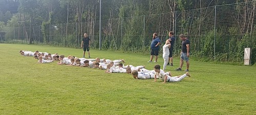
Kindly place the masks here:
[[(149, 52), (152, 35), (159, 34), (162, 45), (168, 32), (174, 31), (174, 53), (179, 55), (185, 34), (190, 40), (190, 51), (196, 57), (222, 61), (243, 61), (244, 48), (252, 48), (256, 61), (255, 1), (213, 6), (202, 9), (175, 11), (154, 15), (102, 20), (102, 49)], [(42, 29), (44, 28), (44, 29)], [(99, 48), (99, 21), (72, 24), (21, 26), (8, 28), (5, 42), (47, 43), (64, 47), (80, 47), (83, 33), (88, 33), (93, 48)], [(19, 31), (19, 32), (18, 32)]]

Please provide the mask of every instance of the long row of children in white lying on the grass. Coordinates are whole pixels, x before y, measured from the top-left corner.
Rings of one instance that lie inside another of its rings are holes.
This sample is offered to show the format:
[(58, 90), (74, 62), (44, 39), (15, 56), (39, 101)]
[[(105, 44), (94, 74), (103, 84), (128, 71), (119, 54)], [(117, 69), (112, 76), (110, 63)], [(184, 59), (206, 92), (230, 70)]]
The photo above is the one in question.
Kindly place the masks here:
[(38, 63), (48, 63), (53, 61), (58, 61), (57, 64), (66, 64), (80, 67), (92, 67), (98, 68), (100, 70), (106, 70), (105, 73), (127, 73), (132, 74), (135, 79), (156, 79), (160, 78), (165, 82), (176, 82), (181, 81), (186, 76), (190, 77), (189, 73), (183, 74), (181, 76), (172, 77), (170, 72), (164, 72), (160, 69), (160, 65), (155, 65), (154, 70), (146, 70), (145, 66), (133, 66), (126, 65), (123, 66), (122, 63), (124, 60), (114, 60), (109, 59), (86, 59), (86, 58), (76, 58), (74, 56), (65, 57), (64, 55), (58, 56), (58, 54), (49, 54), (49, 53), (40, 53), (38, 51), (20, 51), (20, 54), (23, 56), (34, 56), (35, 59), (38, 59)]

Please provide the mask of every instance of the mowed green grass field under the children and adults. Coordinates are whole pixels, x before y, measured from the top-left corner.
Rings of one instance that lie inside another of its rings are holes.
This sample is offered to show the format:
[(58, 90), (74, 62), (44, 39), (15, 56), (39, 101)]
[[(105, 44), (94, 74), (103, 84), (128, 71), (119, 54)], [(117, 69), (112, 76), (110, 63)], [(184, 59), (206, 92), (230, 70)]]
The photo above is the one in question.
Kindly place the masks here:
[[(82, 56), (81, 49), (0, 44), (0, 114), (256, 114), (256, 66), (190, 60), (191, 78), (162, 84), (94, 68), (37, 64), (19, 50)], [(87, 55), (88, 56), (88, 55)], [(91, 50), (91, 57), (145, 65), (150, 55)], [(159, 56), (158, 64), (163, 65)], [(167, 71), (176, 72), (179, 58)], [(185, 68), (185, 65), (183, 66)]]

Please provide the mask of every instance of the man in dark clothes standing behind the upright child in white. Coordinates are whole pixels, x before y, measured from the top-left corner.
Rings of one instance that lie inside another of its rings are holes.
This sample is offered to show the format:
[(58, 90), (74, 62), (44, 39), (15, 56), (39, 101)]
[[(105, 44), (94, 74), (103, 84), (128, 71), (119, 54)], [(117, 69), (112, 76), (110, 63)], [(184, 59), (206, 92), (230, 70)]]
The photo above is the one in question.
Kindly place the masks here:
[(174, 44), (175, 44), (175, 37), (174, 37), (173, 31), (169, 32), (168, 41), (170, 42), (170, 49), (169, 49), (170, 54), (169, 54), (169, 61), (168, 61), (167, 65), (174, 66), (173, 65), (173, 50), (174, 50)]

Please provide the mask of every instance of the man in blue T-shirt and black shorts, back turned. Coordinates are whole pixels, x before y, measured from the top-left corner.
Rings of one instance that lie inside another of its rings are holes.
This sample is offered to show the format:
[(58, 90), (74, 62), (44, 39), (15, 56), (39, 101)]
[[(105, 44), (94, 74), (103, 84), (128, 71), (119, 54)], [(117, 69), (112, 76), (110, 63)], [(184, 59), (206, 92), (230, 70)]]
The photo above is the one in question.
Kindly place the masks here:
[(150, 61), (148, 62), (152, 62), (154, 55), (156, 56), (156, 59), (154, 62), (157, 62), (158, 59), (158, 52), (159, 52), (159, 45), (161, 44), (161, 40), (158, 37), (157, 33), (153, 34), (153, 40), (151, 42), (150, 45), (150, 49), (151, 49), (151, 56), (150, 56)]

